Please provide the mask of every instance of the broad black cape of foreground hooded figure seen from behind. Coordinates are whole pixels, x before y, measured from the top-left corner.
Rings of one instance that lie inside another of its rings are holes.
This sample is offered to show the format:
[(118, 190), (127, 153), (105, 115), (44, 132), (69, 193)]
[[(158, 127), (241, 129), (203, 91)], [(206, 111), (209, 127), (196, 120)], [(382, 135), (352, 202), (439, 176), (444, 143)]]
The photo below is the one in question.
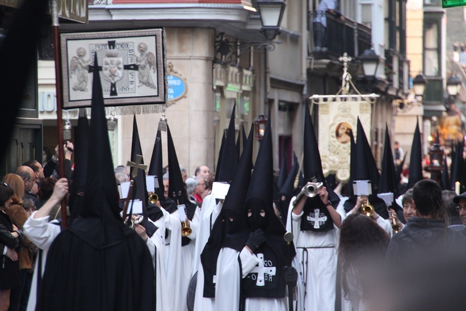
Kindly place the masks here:
[(67, 229), (50, 246), (36, 310), (155, 310), (155, 294), (152, 259), (135, 232), (98, 249)]

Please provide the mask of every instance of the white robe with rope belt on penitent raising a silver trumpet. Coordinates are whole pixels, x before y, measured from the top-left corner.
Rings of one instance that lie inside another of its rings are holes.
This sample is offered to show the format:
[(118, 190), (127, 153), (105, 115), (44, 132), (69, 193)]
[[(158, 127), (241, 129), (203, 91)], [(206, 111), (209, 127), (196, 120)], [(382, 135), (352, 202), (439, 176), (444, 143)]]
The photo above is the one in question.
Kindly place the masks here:
[[(286, 230), (293, 232), (298, 261), (295, 268), (302, 273), (298, 278), (299, 303), (304, 304), (306, 311), (334, 311), (339, 229), (333, 225), (333, 230), (327, 232), (301, 231), (303, 212), (300, 215), (292, 212), (294, 200), (295, 197), (288, 208)], [(341, 203), (336, 211), (343, 222), (346, 213)]]

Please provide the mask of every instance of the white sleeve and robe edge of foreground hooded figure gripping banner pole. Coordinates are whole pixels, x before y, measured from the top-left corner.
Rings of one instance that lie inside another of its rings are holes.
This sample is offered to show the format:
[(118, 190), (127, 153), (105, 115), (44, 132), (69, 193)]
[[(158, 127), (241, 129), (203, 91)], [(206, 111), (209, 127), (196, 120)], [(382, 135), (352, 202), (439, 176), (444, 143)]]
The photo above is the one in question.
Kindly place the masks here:
[[(49, 216), (33, 219), (35, 213), (26, 220), (23, 225), (23, 232), (31, 242), (33, 242), (39, 249), (42, 250), (42, 276), (45, 271), (45, 262), (47, 259), (47, 251), (50, 248), (53, 240), (62, 231), (61, 226), (57, 221), (53, 221), (57, 225), (49, 223)], [(27, 311), (35, 310), (35, 303), (37, 300), (37, 275), (39, 273), (39, 256), (37, 256), (33, 280), (31, 283), (31, 292), (29, 294), (28, 309)]]

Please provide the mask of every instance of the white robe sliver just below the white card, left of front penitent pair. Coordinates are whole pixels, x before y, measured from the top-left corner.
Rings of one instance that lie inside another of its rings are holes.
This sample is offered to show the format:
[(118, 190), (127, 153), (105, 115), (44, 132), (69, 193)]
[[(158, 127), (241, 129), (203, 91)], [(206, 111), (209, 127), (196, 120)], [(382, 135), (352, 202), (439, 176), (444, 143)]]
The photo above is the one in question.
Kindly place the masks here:
[[(202, 208), (198, 208), (196, 213), (199, 214), (198, 228), (196, 234), (196, 247), (193, 255), (193, 269), (191, 276), (194, 276), (200, 267), (200, 254), (204, 250), (205, 244), (209, 240), (210, 231), (214, 226), (218, 214), (222, 209), (223, 204), (218, 202), (214, 195), (209, 194), (202, 200)], [(199, 276), (198, 276), (199, 277)]]

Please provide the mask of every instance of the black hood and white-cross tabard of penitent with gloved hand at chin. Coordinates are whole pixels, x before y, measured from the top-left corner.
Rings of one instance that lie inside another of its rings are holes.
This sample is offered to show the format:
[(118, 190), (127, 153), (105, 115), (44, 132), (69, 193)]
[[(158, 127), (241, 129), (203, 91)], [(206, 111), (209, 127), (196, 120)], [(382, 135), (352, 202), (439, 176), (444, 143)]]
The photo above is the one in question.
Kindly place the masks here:
[[(264, 230), (266, 242), (254, 252), (260, 260), (259, 265), (243, 279), (243, 296), (246, 298), (283, 298), (285, 296), (283, 267), (290, 266), (291, 259), (296, 254), (293, 243), (287, 245), (283, 240), (286, 230), (275, 214), (272, 198), (273, 158), (269, 113), (245, 202), (250, 231)], [(264, 273), (264, 265), (261, 262), (269, 263), (266, 271), (272, 277), (258, 277)]]

